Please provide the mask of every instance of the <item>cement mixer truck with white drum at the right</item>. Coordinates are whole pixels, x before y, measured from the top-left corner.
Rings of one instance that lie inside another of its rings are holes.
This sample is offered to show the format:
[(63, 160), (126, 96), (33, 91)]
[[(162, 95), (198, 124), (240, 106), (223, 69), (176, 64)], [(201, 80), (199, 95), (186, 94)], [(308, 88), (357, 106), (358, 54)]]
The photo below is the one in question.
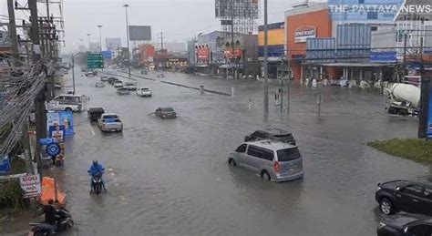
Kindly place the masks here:
[(399, 116), (418, 116), (420, 87), (408, 84), (393, 84), (386, 89), (387, 113)]

